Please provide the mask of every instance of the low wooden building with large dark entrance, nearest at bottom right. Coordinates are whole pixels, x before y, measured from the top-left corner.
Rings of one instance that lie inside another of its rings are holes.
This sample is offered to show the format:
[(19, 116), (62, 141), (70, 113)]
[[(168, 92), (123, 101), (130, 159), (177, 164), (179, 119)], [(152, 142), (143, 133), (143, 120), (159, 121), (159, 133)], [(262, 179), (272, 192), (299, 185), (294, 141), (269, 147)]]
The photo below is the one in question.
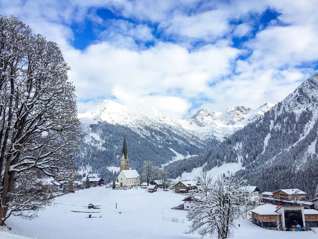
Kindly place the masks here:
[(258, 226), (275, 229), (279, 217), (282, 228), (292, 230), (296, 225), (317, 226), (318, 211), (304, 209), (302, 206), (276, 206), (262, 204), (252, 210), (252, 222)]

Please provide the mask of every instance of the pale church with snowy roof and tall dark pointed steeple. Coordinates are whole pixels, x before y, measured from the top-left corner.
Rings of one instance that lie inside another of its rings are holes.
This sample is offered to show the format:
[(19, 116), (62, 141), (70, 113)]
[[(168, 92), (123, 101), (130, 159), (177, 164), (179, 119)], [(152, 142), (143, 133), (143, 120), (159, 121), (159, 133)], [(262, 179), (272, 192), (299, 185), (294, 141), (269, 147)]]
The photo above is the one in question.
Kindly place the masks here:
[(124, 137), (122, 157), (120, 159), (120, 173), (117, 176), (116, 181), (120, 183), (120, 186), (124, 187), (140, 185), (140, 175), (137, 170), (129, 169), (129, 156), (126, 145), (126, 136)]

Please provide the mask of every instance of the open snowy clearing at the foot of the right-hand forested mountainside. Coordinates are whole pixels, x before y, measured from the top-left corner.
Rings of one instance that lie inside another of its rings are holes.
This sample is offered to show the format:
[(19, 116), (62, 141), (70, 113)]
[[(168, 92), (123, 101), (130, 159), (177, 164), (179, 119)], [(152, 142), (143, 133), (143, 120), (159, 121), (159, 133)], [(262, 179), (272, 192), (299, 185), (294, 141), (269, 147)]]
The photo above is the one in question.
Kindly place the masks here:
[[(192, 169), (192, 171), (190, 173), (187, 172), (183, 172), (181, 177), (178, 177), (177, 180), (189, 180), (189, 179), (194, 179), (195, 176), (199, 176), (200, 173), (202, 172), (202, 167), (198, 167), (198, 168), (194, 168)], [(214, 178), (216, 178), (218, 175), (222, 175), (223, 173), (228, 174), (228, 172), (230, 173), (235, 173), (237, 171), (239, 171), (240, 169), (244, 169), (244, 167), (242, 167), (242, 163), (227, 163), (227, 164), (223, 164), (220, 167), (214, 167), (213, 169), (210, 169), (207, 171), (207, 175), (209, 176), (213, 176)]]

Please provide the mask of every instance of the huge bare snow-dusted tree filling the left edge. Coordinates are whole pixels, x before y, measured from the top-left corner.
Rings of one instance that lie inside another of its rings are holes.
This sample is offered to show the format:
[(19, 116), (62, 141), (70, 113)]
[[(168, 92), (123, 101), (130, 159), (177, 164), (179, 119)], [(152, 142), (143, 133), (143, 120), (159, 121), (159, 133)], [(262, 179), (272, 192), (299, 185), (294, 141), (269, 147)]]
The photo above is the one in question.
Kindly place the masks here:
[(49, 200), (37, 175), (68, 180), (79, 121), (69, 67), (55, 42), (0, 16), (0, 225)]

